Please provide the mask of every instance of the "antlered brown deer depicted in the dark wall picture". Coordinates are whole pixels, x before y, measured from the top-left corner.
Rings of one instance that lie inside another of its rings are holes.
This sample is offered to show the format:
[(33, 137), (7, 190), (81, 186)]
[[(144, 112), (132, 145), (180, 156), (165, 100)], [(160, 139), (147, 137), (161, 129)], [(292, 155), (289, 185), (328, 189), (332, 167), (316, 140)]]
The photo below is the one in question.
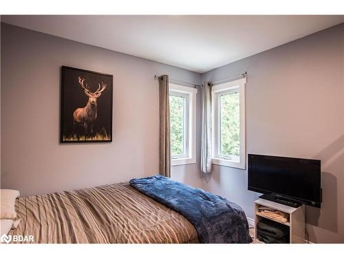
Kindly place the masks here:
[(93, 134), (94, 121), (97, 119), (97, 98), (100, 97), (106, 85), (102, 82), (98, 83), (98, 89), (96, 92), (91, 92), (87, 83), (85, 83), (85, 78), (78, 77), (79, 85), (84, 89), (86, 96), (88, 97), (88, 102), (85, 107), (79, 107), (73, 112), (74, 125), (82, 125), (85, 129), (85, 136)]

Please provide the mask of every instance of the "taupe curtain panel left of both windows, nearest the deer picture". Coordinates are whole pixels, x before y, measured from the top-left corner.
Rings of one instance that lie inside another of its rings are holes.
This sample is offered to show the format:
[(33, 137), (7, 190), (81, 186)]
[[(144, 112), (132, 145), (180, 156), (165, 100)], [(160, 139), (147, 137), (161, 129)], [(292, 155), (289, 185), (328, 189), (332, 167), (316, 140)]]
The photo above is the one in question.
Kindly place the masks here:
[(169, 76), (159, 79), (160, 175), (171, 178)]

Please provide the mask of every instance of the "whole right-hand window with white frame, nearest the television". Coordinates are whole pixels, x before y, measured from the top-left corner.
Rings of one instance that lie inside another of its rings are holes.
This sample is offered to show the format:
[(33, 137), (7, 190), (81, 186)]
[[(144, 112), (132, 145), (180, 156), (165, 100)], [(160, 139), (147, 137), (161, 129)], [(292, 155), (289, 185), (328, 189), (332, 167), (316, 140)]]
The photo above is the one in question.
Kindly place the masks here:
[(246, 78), (215, 85), (213, 100), (213, 164), (245, 169)]

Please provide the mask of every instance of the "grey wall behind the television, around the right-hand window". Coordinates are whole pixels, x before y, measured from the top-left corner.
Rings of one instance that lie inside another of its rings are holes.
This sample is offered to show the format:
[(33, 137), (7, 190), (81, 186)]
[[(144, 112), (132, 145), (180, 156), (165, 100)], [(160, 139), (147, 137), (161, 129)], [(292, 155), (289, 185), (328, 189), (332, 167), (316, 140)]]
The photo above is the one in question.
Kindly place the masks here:
[[(310, 241), (343, 243), (344, 23), (206, 72), (202, 80), (244, 71), (247, 152), (320, 159), (323, 204), (307, 208)], [(214, 165), (202, 188), (253, 218), (259, 194), (247, 190), (246, 170)]]

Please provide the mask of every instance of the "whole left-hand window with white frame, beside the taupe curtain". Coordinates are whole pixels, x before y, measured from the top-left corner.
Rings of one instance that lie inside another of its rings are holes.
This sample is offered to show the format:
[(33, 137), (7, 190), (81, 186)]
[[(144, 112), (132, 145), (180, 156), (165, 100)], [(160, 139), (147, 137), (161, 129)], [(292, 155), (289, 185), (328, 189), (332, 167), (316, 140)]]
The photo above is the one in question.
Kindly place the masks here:
[(172, 166), (195, 163), (197, 89), (169, 84)]

